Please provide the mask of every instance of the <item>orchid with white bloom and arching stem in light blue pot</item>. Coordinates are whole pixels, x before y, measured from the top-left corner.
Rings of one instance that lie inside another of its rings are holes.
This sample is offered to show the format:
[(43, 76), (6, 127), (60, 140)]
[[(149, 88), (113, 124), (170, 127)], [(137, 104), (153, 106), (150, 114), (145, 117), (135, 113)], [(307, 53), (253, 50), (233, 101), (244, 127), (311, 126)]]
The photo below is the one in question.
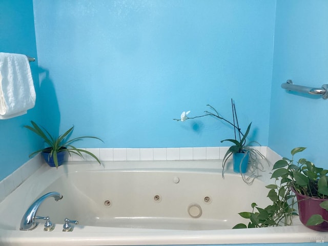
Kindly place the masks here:
[(232, 154), (249, 152), (250, 153), (250, 161), (249, 161), (249, 163), (250, 163), (250, 165), (249, 165), (250, 173), (249, 174), (250, 175), (248, 177), (246, 177), (245, 175), (242, 174), (241, 176), (242, 176), (242, 178), (245, 182), (252, 183), (254, 181), (254, 179), (259, 176), (258, 175), (258, 170), (263, 171), (263, 166), (262, 166), (262, 163), (261, 163), (260, 159), (265, 159), (266, 160), (264, 155), (262, 155), (258, 150), (251, 147), (251, 144), (253, 144), (255, 141), (251, 141), (248, 144), (246, 144), (246, 139), (247, 139), (247, 136), (250, 133), (252, 122), (248, 125), (247, 130), (243, 133), (241, 131), (241, 128), (239, 127), (239, 122), (238, 122), (238, 117), (237, 117), (237, 112), (236, 112), (236, 106), (233, 102), (233, 99), (231, 99), (232, 116), (233, 116), (232, 121), (230, 121), (230, 120), (224, 118), (223, 116), (221, 116), (218, 113), (218, 111), (214, 107), (212, 107), (211, 105), (208, 104), (207, 107), (210, 108), (210, 111), (208, 111), (208, 110), (204, 111), (203, 115), (189, 117), (188, 114), (191, 111), (187, 111), (187, 112), (183, 111), (181, 113), (180, 119), (174, 119), (174, 120), (176, 120), (176, 121), (186, 121), (186, 120), (189, 120), (189, 119), (195, 119), (195, 118), (200, 118), (200, 117), (205, 117), (205, 116), (211, 116), (211, 117), (215, 117), (219, 120), (222, 120), (222, 121), (226, 122), (228, 125), (232, 126), (233, 129), (234, 129), (234, 138), (221, 140), (221, 142), (228, 141), (228, 142), (231, 142), (233, 144), (228, 149), (228, 151), (226, 152), (226, 154), (223, 157), (222, 177), (224, 177), (224, 169), (226, 168), (227, 161), (228, 161), (229, 157), (231, 157)]

